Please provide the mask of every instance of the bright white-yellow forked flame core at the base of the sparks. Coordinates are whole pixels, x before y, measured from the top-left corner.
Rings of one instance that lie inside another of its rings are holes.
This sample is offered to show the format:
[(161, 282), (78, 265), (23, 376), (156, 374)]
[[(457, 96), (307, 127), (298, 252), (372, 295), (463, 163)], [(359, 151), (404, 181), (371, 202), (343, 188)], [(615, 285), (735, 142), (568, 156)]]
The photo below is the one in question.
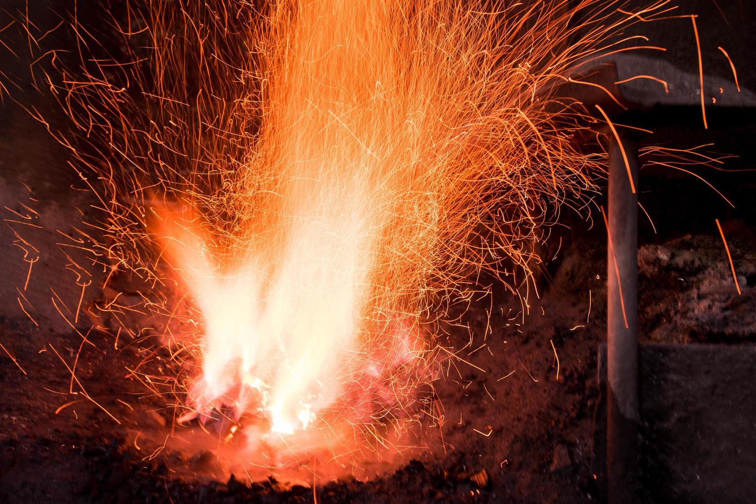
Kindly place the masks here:
[[(299, 212), (277, 227), (289, 240), (271, 240), (262, 257), (243, 251), (219, 264), (191, 227), (166, 226), (172, 264), (180, 267), (204, 321), (202, 379), (190, 394), (197, 410), (181, 420), (231, 406), (235, 420), (253, 412), (271, 431), (292, 434), (311, 426), (344, 393), (355, 368), (378, 379), (386, 358), (398, 364), (414, 357), (406, 336), (383, 329), (370, 332), (367, 341), (359, 337), (369, 330), (363, 317), (374, 301), (369, 276), (376, 238), (366, 224), (375, 227), (376, 215), (364, 208), (364, 197), (347, 191), (318, 201), (322, 183), (308, 185), (312, 196), (293, 199), (291, 208)], [(277, 203), (278, 197), (271, 199)], [(380, 354), (370, 354), (373, 339), (387, 340)], [(361, 415), (369, 418), (370, 412)]]

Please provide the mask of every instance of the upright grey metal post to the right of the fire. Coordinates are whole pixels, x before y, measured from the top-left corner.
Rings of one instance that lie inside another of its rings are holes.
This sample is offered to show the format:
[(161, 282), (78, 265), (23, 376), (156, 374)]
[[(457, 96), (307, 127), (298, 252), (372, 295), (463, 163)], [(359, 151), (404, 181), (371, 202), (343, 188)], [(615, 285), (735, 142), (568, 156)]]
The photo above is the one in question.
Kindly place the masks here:
[(638, 147), (610, 138), (606, 462), (609, 502), (620, 504), (638, 498)]

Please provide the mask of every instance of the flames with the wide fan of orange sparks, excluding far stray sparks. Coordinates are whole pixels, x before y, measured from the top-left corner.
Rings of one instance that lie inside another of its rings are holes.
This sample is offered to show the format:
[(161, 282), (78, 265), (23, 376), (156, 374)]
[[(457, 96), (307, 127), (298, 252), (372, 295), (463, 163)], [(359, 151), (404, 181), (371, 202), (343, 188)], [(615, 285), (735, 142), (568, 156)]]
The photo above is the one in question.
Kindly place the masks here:
[(95, 326), (160, 335), (178, 420), (231, 416), (253, 447), (336, 454), (435, 422), (427, 390), (454, 353), (433, 323), (485, 292), (481, 271), (526, 311), (536, 244), (603, 171), (576, 141), (595, 119), (556, 85), (667, 3), (127, 9), (123, 57), (48, 77), (101, 212), (72, 240), (104, 288), (120, 272), (139, 295), (91, 307)]

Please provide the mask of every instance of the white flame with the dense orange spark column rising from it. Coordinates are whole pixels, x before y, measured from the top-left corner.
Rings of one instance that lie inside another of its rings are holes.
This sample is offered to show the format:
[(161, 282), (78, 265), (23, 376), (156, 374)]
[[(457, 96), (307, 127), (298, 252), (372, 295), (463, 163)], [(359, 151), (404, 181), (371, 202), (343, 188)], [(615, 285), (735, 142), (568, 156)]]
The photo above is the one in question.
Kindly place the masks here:
[[(497, 64), (502, 27), (438, 2), (282, 2), (269, 14), (249, 42), (255, 70), (241, 74), (264, 85), (256, 142), (224, 187), (231, 237), (166, 228), (205, 321), (184, 418), (231, 404), (274, 432), (311, 426), (361, 367), (389, 370), (387, 324), (417, 320), (423, 284), (460, 259), (456, 243), (497, 192), (520, 199), (510, 215), (534, 229), (538, 193), (590, 187), (562, 164), (575, 156), (566, 137), (533, 131), (549, 119), (532, 95), (544, 76), (528, 70), (538, 57)], [(528, 252), (497, 234), (491, 255), (525, 264)]]

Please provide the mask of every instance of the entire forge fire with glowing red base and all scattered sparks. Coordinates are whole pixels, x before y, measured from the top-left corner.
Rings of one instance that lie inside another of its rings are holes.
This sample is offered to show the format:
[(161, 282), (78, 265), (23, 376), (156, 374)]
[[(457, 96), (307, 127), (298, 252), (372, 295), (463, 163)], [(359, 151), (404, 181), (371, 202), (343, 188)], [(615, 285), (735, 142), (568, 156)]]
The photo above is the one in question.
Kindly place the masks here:
[[(596, 215), (603, 226), (606, 145), (620, 146), (634, 184), (623, 139), (650, 130), (612, 119), (631, 107), (618, 86), (670, 92), (643, 69), (606, 84), (608, 58), (664, 52), (644, 26), (690, 30), (696, 120), (708, 127), (711, 48), (701, 20), (667, 1), (100, 3), (60, 11), (53, 29), (20, 8), (0, 33), (31, 61), (23, 85), (0, 73), (0, 95), (57, 142), (78, 209), (53, 239), (73, 274), (63, 287), (35, 265), (42, 246), (24, 228), (41, 228), (48, 203), (33, 181), (5, 207), (26, 268), (13, 302), (36, 327), (50, 305), (75, 333), (78, 351), (44, 348), (69, 379), (48, 388), (67, 396), (55, 416), (88, 403), (131, 425), (132, 403), (147, 401), (165, 425), (126, 441), (176, 481), (273, 475), (312, 485), (319, 502), (329, 479), (450, 456), (463, 448), (444, 438), (454, 425), (488, 442), (506, 427), (476, 422), (479, 404), (519, 401), (496, 384), (516, 371), (539, 386), (565, 380), (558, 323), (532, 320), (545, 316), (563, 229)], [(737, 84), (737, 62), (714, 51)], [(56, 106), (24, 102), (23, 86)], [(693, 163), (727, 159), (711, 142), (639, 152), (646, 166), (698, 178)], [(29, 282), (49, 292), (27, 297)], [(584, 289), (587, 317), (571, 331), (590, 323), (595, 292)], [(512, 369), (476, 360), (500, 359), (528, 320), (544, 333), (548, 378), (519, 359)], [(125, 359), (113, 357), (125, 392), (88, 391), (82, 356), (94, 348)], [(480, 382), (485, 395), (457, 415), (438, 391), (451, 382), (465, 396)], [(200, 463), (179, 468), (169, 453)], [(468, 487), (426, 497), (495, 500), (493, 472), (439, 471)]]

